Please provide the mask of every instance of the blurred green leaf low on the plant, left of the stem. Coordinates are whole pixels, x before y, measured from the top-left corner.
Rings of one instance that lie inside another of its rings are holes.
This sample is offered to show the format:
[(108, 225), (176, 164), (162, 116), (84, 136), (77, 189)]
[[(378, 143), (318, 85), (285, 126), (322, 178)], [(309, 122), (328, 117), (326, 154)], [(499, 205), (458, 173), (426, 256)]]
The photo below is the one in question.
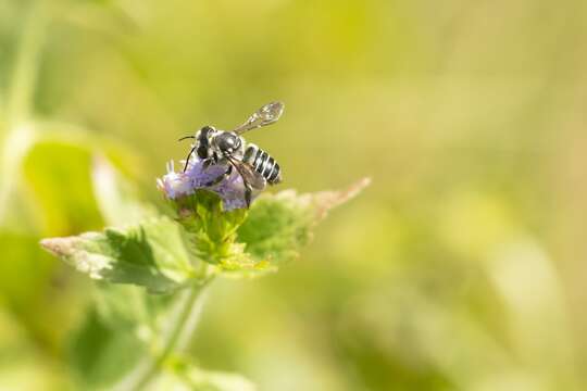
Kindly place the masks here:
[(95, 285), (84, 323), (70, 332), (68, 358), (78, 389), (113, 389), (113, 383), (161, 349), (180, 298), (149, 294), (130, 285)]

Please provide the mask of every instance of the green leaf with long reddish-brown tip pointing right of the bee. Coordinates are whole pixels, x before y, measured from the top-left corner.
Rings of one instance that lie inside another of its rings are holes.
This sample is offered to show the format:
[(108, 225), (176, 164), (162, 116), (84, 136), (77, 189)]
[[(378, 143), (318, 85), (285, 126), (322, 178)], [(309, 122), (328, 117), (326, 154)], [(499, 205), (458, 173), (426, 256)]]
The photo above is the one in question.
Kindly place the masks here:
[(365, 178), (342, 191), (297, 194), (286, 190), (262, 195), (239, 227), (238, 241), (246, 244), (246, 252), (257, 263), (278, 265), (297, 257), (328, 211), (355, 197), (369, 184)]

